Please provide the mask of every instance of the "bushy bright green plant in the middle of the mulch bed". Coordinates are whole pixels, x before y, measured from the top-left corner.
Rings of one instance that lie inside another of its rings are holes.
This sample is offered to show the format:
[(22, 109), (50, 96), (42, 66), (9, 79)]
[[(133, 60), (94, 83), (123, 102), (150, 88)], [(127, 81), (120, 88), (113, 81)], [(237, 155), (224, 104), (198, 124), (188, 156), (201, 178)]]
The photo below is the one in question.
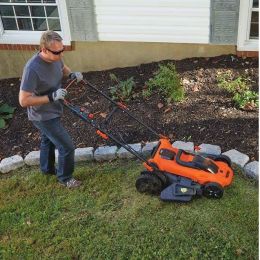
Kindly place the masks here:
[(168, 102), (178, 102), (184, 98), (184, 88), (175, 65), (172, 63), (159, 65), (159, 70), (155, 73), (155, 77), (146, 82), (146, 86), (148, 87), (147, 90), (143, 91), (145, 96), (151, 95), (152, 90), (158, 88)]

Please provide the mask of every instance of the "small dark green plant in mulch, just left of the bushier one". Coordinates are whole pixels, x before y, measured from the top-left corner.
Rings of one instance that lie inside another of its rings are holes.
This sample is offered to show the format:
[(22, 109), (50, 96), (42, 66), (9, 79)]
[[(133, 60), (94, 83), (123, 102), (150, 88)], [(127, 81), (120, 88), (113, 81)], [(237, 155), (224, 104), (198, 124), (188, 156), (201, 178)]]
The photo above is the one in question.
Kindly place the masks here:
[(125, 81), (120, 81), (115, 74), (110, 74), (109, 76), (112, 81), (116, 82), (116, 85), (110, 88), (112, 99), (129, 101), (135, 87), (134, 78), (131, 77)]

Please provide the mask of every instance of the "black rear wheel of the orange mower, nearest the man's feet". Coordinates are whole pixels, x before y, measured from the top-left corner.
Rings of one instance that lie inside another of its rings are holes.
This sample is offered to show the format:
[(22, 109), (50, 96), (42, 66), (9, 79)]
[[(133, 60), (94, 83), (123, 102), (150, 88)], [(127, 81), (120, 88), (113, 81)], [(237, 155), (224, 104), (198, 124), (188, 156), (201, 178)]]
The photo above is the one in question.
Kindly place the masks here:
[(162, 191), (162, 182), (155, 174), (142, 172), (142, 174), (136, 179), (135, 187), (140, 193), (159, 195)]

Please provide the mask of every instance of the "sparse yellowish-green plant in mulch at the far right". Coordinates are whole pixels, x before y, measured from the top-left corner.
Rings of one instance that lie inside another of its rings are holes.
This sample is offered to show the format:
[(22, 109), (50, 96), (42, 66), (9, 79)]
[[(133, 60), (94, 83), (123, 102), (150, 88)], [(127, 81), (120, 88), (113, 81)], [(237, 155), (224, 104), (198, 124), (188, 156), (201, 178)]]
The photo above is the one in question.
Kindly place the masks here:
[(231, 75), (225, 73), (217, 76), (218, 86), (226, 89), (233, 96), (235, 106), (239, 109), (254, 110), (259, 107), (259, 95), (251, 91), (242, 77), (232, 79)]

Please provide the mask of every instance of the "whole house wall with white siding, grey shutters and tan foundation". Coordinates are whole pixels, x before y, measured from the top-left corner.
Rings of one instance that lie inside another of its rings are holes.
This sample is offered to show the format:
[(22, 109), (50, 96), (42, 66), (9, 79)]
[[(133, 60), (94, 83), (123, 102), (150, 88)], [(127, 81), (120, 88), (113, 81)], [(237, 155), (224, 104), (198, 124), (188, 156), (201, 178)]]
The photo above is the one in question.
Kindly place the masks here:
[[(239, 0), (66, 0), (66, 7), (74, 50), (64, 59), (73, 70), (236, 52)], [(0, 78), (19, 77), (32, 54), (0, 50)]]

